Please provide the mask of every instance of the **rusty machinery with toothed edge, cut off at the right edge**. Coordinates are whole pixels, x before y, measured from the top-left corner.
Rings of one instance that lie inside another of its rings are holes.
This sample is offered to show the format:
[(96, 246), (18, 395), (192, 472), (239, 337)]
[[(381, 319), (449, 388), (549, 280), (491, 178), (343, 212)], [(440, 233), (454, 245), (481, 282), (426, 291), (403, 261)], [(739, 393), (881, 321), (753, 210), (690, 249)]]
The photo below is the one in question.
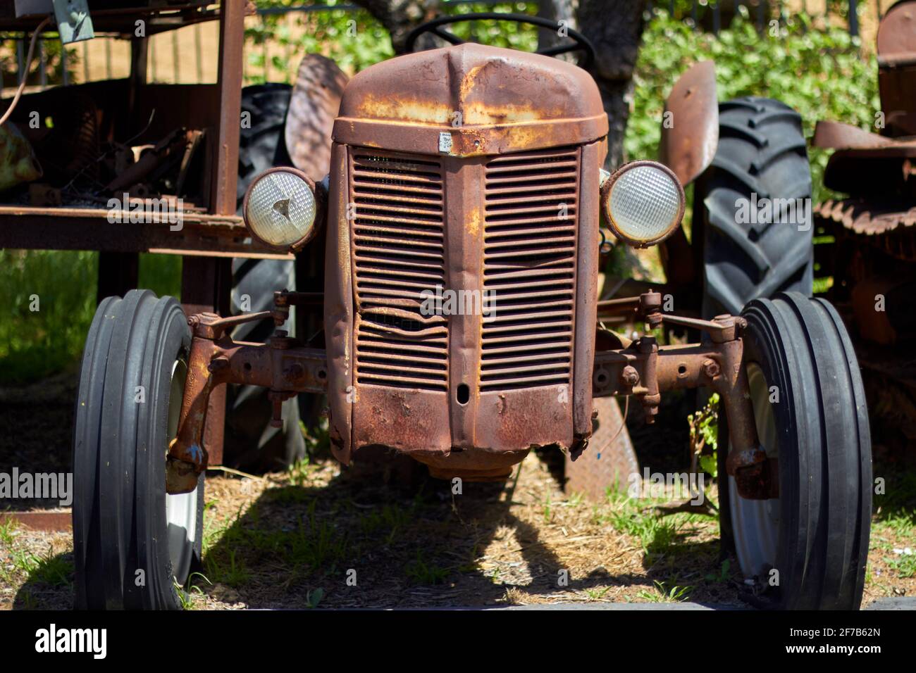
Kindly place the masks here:
[[(822, 264), (829, 298), (853, 325), (876, 435), (902, 455), (916, 441), (916, 2), (893, 5), (878, 25), (879, 133), (819, 122), (814, 144), (833, 149), (815, 224), (834, 237)], [(820, 254), (819, 254), (820, 255)]]

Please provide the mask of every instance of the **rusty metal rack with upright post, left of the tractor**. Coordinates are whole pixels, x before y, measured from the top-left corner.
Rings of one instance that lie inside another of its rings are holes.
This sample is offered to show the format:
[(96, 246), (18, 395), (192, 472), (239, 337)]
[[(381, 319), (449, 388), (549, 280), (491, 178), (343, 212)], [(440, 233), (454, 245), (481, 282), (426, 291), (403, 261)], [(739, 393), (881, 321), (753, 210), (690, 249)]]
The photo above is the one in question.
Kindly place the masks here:
[[(206, 5), (211, 3), (93, 12), (97, 32), (113, 31), (127, 36), (133, 36), (137, 16), (155, 24), (150, 26), (147, 36), (202, 20), (219, 19), (215, 95), (207, 92), (204, 98), (206, 103), (213, 103), (213, 117), (217, 120), (208, 128), (206, 141), (208, 156), (204, 169), (210, 182), (209, 186), (205, 181), (202, 184), (205, 207), (182, 212), (182, 229), (175, 231), (158, 214), (152, 215), (150, 223), (111, 223), (109, 211), (103, 208), (0, 205), (0, 248), (100, 251), (105, 255), (100, 262), (99, 288), (106, 294), (117, 295), (136, 287), (138, 253), (183, 255), (186, 267), (206, 271), (182, 274), (182, 296), (192, 298), (193, 304), (184, 307), (188, 314), (194, 310), (221, 309), (220, 304), (228, 298), (228, 288), (222, 280), (229, 257), (291, 258), (289, 253), (253, 243), (242, 219), (234, 214), (245, 15), (251, 13), (253, 6), (247, 0), (221, 0), (218, 11), (207, 9)], [(0, 10), (0, 27), (32, 27), (36, 23), (32, 17), (16, 19), (10, 16), (11, 11), (11, 8)], [(154, 19), (158, 18), (162, 20), (157, 23)], [(146, 39), (133, 40), (131, 73), (126, 93), (128, 103), (136, 102), (138, 91), (155, 94), (168, 91), (169, 85), (146, 84)], [(186, 111), (187, 107), (181, 110)], [(220, 388), (212, 398), (207, 429), (217, 462), (222, 456), (224, 391), (224, 387)]]

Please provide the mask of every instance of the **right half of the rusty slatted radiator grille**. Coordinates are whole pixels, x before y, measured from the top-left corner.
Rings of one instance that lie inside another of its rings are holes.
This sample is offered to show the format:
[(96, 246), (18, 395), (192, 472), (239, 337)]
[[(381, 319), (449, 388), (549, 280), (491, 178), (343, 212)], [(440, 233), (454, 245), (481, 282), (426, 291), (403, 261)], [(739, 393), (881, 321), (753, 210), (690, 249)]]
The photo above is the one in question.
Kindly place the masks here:
[(481, 390), (570, 382), (578, 201), (577, 147), (486, 164)]

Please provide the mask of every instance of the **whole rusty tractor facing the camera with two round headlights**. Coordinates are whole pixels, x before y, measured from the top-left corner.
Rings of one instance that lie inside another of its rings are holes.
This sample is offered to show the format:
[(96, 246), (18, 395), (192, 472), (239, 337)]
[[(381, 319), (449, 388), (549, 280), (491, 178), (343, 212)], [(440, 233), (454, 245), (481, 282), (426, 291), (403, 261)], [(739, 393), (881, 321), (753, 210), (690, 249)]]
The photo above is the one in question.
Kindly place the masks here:
[[(667, 311), (651, 288), (610, 299), (597, 288), (602, 228), (619, 244), (668, 243), (671, 268), (673, 255), (692, 259), (678, 233), (682, 182), (706, 175), (709, 219), (729, 229), (714, 201), (730, 183), (707, 172), (737, 170), (734, 156), (717, 154), (728, 145), (720, 127), (743, 144), (763, 192), (764, 178), (778, 183), (767, 171), (780, 151), (798, 156), (794, 140), (783, 147), (767, 136), (794, 113), (752, 99), (724, 103), (718, 115), (703, 65), (672, 93), (684, 122), (666, 131), (668, 165), (634, 161), (608, 174), (608, 121), (589, 74), (550, 58), (557, 48), (462, 43), (442, 28), (455, 20), (414, 36), (435, 32), (452, 46), (387, 60), (347, 83), (325, 179), (270, 168), (248, 187), (245, 223), (263, 244), (297, 252), (326, 228), (323, 293), (264, 288), (270, 309), (228, 317), (185, 316), (175, 299), (146, 290), (100, 304), (76, 406), (78, 606), (180, 605), (201, 553), (208, 399), (242, 384), (267, 389), (276, 424), (285, 400), (327, 396), (333, 455), (344, 465), (384, 449), (434, 477), (472, 481), (505, 479), (535, 448), (578, 458), (596, 400), (628, 396), (651, 422), (666, 393), (706, 387), (727, 421), (722, 490), (742, 569), (781, 607), (856, 608), (871, 462), (843, 323), (826, 301), (793, 291), (717, 308), (776, 273), (779, 258), (755, 245), (794, 242), (789, 225), (742, 234), (752, 276), (708, 292), (712, 316)], [(564, 49), (594, 56), (582, 35), (569, 35)], [(810, 233), (800, 229), (804, 252)], [(793, 268), (803, 276), (800, 259)], [(731, 266), (744, 264), (733, 255)], [(769, 290), (785, 282), (791, 275)], [(290, 336), (290, 309), (316, 297), (323, 339)], [(611, 316), (646, 330), (631, 339), (601, 328), (599, 317)], [(232, 338), (235, 326), (265, 319), (277, 328), (266, 342)], [(702, 338), (660, 344), (653, 329), (664, 326)], [(141, 388), (145, 404), (136, 403)], [(142, 587), (137, 568), (147, 572)]]

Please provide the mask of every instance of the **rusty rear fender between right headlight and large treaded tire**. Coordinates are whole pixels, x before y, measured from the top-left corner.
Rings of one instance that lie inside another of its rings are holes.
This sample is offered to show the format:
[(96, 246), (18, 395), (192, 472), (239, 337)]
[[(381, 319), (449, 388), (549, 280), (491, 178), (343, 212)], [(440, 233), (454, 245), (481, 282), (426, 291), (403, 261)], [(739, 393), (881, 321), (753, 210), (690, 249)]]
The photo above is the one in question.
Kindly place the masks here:
[(703, 60), (681, 75), (665, 101), (659, 160), (686, 186), (713, 163), (718, 144), (715, 64)]

